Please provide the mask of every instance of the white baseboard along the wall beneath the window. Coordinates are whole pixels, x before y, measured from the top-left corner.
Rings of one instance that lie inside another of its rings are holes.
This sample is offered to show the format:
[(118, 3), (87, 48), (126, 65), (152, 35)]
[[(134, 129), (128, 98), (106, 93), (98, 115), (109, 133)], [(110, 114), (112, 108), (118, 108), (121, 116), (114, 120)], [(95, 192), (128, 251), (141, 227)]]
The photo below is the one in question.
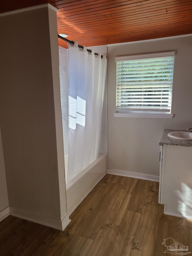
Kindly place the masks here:
[(107, 169), (107, 173), (113, 174), (113, 175), (119, 175), (119, 176), (125, 176), (125, 177), (137, 178), (137, 179), (146, 179), (146, 180), (159, 182), (159, 176), (153, 176), (153, 175), (148, 175), (143, 173), (131, 173), (126, 171), (111, 170), (111, 169)]

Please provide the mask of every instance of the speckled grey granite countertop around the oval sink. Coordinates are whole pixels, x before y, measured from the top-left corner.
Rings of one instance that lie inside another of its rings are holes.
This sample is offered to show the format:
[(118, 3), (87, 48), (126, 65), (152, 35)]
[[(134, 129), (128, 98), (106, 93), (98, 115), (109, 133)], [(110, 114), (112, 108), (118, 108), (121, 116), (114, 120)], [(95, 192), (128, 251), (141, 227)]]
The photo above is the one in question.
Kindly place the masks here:
[(168, 133), (172, 131), (180, 131), (180, 130), (164, 130), (164, 133), (161, 136), (161, 140), (159, 142), (159, 146), (165, 145), (173, 145), (173, 146), (185, 146), (185, 147), (192, 147), (192, 140), (178, 140), (173, 139), (167, 136)]

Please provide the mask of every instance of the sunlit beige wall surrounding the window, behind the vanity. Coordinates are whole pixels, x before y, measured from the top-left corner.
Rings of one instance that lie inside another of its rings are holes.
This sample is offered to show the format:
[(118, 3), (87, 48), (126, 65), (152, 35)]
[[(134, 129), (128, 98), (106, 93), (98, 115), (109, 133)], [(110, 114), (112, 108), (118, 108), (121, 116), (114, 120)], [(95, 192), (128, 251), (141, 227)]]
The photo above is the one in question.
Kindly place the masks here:
[[(114, 117), (116, 112), (115, 56), (176, 51), (172, 113), (173, 119)], [(108, 168), (159, 176), (159, 140), (164, 129), (192, 126), (192, 37), (111, 45), (107, 47), (108, 68)]]

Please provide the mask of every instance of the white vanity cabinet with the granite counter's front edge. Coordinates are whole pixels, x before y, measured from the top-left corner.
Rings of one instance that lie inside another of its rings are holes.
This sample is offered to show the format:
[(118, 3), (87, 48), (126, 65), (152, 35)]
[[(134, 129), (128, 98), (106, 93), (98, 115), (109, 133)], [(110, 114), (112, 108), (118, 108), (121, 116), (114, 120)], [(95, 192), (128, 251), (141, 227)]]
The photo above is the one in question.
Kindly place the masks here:
[(192, 141), (177, 142), (169, 132), (160, 140), (159, 203), (165, 214), (192, 219)]

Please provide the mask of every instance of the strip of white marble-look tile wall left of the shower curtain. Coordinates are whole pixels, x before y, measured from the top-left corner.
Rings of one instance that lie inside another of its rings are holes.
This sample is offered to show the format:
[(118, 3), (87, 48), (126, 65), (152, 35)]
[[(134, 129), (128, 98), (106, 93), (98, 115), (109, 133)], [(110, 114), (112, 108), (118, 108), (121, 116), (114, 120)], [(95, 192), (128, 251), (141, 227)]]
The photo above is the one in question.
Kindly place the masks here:
[(69, 139), (69, 104), (68, 104), (68, 50), (59, 47), (59, 59), (62, 60), (62, 65), (59, 65), (60, 71), (60, 86), (61, 86), (61, 110), (63, 123), (63, 142), (64, 154), (68, 154), (68, 139)]

